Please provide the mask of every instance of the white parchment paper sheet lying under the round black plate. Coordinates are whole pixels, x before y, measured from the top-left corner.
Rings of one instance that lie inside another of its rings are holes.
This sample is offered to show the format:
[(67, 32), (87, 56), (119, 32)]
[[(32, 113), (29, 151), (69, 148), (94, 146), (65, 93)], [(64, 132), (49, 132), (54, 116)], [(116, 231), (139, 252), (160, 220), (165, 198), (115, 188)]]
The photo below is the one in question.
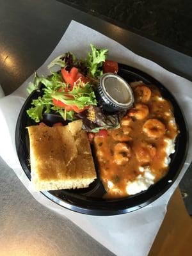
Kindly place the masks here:
[(13, 168), (24, 186), (26, 186), (38, 202), (76, 223), (76, 225), (116, 255), (144, 256), (148, 254), (163, 221), (170, 196), (191, 163), (192, 83), (168, 72), (152, 61), (134, 54), (134, 52), (129, 51), (129, 49), (126, 49), (110, 38), (73, 20), (52, 54), (47, 58), (42, 67), (38, 68), (38, 74), (44, 74), (44, 76), (49, 74), (47, 65), (52, 59), (63, 52), (71, 51), (79, 57), (85, 57), (86, 52), (90, 51), (90, 43), (97, 47), (108, 48), (109, 59), (136, 67), (155, 77), (172, 92), (179, 102), (188, 121), (189, 152), (186, 163), (172, 188), (147, 207), (119, 216), (88, 216), (72, 212), (54, 204), (41, 193), (33, 191), (28, 178), (22, 171), (15, 151), (15, 125), (22, 104), (28, 97), (26, 86), (29, 81), (33, 80), (33, 75), (14, 93), (0, 99), (0, 156)]

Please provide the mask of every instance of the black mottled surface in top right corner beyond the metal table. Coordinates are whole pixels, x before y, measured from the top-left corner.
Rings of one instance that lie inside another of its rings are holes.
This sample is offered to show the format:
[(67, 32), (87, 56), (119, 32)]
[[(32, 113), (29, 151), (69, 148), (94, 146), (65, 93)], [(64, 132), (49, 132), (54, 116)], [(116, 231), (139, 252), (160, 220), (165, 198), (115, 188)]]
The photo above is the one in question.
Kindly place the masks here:
[(59, 0), (192, 56), (191, 0)]

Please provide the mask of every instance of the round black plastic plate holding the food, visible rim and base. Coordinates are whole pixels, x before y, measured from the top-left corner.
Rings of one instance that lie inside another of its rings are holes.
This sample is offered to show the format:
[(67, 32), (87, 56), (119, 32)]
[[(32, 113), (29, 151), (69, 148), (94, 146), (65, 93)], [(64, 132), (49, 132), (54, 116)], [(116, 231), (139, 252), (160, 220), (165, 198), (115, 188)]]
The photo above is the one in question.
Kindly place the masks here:
[[(161, 90), (163, 97), (172, 102), (175, 120), (177, 125), (179, 125), (180, 134), (177, 136), (175, 142), (175, 153), (171, 155), (170, 170), (163, 179), (150, 186), (147, 191), (116, 200), (105, 200), (102, 198), (102, 195), (104, 195), (104, 188), (99, 179), (95, 180), (95, 182), (90, 184), (89, 188), (86, 189), (62, 189), (58, 191), (42, 192), (43, 195), (47, 196), (47, 198), (56, 204), (72, 211), (93, 215), (116, 215), (140, 209), (159, 198), (159, 196), (163, 195), (163, 193), (172, 186), (186, 159), (188, 150), (188, 128), (179, 104), (177, 104), (172, 93), (170, 93), (163, 84), (159, 83), (156, 79), (136, 68), (120, 64), (118, 75), (122, 76), (128, 83), (142, 80), (146, 84), (155, 84)], [(30, 120), (26, 114), (26, 110), (31, 107), (31, 101), (36, 99), (38, 95), (40, 95), (40, 92), (31, 93), (24, 103), (17, 120), (15, 132), (15, 143), (19, 161), (29, 180), (31, 180), (29, 166), (29, 137), (26, 127), (34, 125), (35, 122)]]

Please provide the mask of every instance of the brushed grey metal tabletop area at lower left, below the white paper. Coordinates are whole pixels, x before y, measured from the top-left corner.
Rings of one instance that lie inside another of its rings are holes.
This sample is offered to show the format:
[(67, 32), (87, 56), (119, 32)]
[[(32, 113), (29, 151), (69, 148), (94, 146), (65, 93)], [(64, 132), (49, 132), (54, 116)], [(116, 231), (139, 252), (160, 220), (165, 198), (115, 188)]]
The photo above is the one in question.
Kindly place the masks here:
[(0, 157), (1, 256), (109, 256), (71, 221), (36, 202)]

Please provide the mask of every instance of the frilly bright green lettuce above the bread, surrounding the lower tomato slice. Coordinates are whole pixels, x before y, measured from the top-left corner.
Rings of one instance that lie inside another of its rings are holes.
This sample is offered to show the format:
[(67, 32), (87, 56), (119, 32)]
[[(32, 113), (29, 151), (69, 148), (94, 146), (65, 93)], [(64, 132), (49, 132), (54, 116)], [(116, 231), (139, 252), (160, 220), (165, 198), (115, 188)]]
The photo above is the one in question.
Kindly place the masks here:
[[(68, 118), (74, 118), (74, 111), (66, 111), (64, 108), (54, 106), (52, 99), (60, 100), (67, 105), (76, 105), (78, 108), (84, 108), (90, 104), (97, 105), (95, 99), (95, 93), (92, 90), (92, 85), (89, 83), (83, 84), (82, 82), (74, 85), (72, 90), (65, 92), (68, 89), (68, 84), (61, 81), (61, 75), (56, 72), (52, 72), (50, 77), (38, 77), (35, 76), (35, 82), (29, 84), (29, 90), (35, 88), (38, 90), (40, 85), (44, 84), (42, 91), (44, 94), (38, 99), (34, 99), (31, 103), (33, 107), (27, 110), (27, 113), (31, 119), (35, 122), (40, 122), (43, 116), (42, 114), (50, 113), (51, 110), (60, 113), (66, 120)], [(60, 92), (58, 92), (60, 90)]]

